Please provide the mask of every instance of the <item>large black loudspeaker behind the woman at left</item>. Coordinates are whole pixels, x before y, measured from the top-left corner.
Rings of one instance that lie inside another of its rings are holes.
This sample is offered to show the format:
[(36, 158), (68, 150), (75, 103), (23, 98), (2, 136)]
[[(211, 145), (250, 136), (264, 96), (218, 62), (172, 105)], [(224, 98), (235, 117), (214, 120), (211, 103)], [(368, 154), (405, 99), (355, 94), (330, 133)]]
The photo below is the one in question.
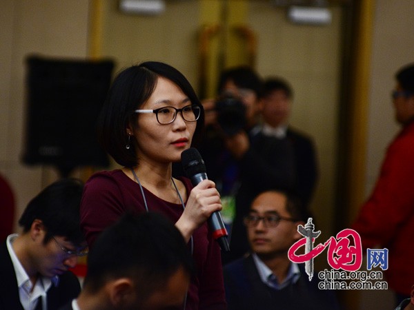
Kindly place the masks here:
[(23, 163), (55, 165), (61, 176), (80, 166), (106, 167), (95, 123), (115, 63), (28, 56)]

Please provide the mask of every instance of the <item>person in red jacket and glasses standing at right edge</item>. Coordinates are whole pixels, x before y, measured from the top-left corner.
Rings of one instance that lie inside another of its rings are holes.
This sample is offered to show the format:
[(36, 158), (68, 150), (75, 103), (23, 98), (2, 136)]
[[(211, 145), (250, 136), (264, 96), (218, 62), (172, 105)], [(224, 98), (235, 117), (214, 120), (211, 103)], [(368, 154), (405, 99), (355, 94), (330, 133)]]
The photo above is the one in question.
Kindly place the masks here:
[(380, 176), (353, 223), (362, 247), (388, 249), (388, 287), (397, 304), (410, 297), (414, 279), (414, 63), (395, 75), (395, 119), (402, 130), (388, 146)]

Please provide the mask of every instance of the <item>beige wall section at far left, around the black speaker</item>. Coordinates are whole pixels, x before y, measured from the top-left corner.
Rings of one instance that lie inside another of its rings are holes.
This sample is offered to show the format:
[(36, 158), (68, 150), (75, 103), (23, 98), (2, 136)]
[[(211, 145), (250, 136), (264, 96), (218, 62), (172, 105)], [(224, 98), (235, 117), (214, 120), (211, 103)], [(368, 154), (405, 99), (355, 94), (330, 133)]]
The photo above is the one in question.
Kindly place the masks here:
[(85, 57), (88, 6), (84, 0), (0, 1), (0, 173), (14, 189), (17, 218), (28, 201), (57, 178), (52, 168), (28, 167), (20, 161), (26, 56)]

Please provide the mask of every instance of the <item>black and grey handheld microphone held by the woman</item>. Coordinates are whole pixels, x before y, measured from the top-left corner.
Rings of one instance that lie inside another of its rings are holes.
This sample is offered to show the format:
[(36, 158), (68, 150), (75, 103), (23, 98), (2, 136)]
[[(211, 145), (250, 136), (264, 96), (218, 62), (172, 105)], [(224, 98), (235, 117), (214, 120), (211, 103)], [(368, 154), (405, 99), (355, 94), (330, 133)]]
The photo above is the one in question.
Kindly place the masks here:
[[(186, 149), (181, 153), (181, 163), (184, 172), (186, 172), (186, 175), (190, 178), (191, 183), (193, 183), (194, 186), (199, 184), (202, 180), (208, 179), (203, 158), (201, 158), (201, 155), (194, 147)], [(230, 251), (227, 240), (227, 230), (219, 211), (214, 211), (213, 214), (211, 214), (210, 218), (208, 218), (208, 225), (213, 232), (213, 238), (219, 242), (221, 250)]]

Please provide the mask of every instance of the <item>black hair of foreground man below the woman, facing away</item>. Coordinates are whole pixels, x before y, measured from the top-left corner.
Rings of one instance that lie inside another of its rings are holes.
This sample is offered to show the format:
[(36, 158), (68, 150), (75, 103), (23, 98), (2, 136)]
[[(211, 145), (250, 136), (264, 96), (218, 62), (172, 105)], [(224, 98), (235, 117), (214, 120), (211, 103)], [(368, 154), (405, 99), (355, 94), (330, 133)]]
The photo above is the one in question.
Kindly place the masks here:
[(84, 287), (96, 293), (108, 280), (132, 278), (141, 298), (147, 298), (180, 267), (193, 275), (193, 258), (174, 223), (152, 212), (127, 213), (104, 230), (90, 250)]

